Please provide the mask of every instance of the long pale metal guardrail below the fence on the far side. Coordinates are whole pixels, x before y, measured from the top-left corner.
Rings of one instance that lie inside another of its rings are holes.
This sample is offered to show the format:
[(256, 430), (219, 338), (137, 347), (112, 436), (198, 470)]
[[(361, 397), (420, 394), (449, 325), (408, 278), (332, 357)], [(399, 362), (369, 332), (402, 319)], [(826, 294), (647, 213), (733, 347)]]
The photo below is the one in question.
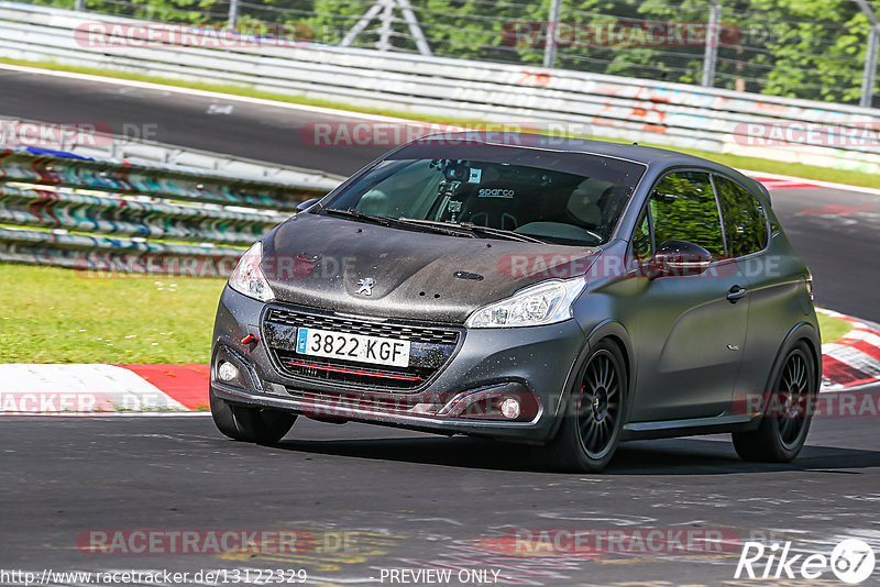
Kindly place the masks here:
[[(150, 23), (0, 2), (0, 56), (50, 60), (283, 95), (481, 119), (825, 167), (880, 171), (878, 141), (846, 140), (880, 110), (652, 80), (375, 51), (253, 43), (221, 49), (131, 43), (114, 27), (86, 42), (88, 22)], [(145, 29), (144, 29), (145, 30)], [(146, 33), (144, 33), (146, 34)], [(122, 35), (122, 36), (114, 36)], [(179, 40), (179, 35), (177, 37)], [(749, 124), (800, 136), (756, 144)], [(803, 132), (810, 124), (834, 125)], [(794, 125), (794, 126), (792, 126)], [(796, 125), (800, 125), (796, 126)], [(869, 129), (870, 130), (870, 129)], [(869, 133), (870, 134), (870, 133)], [(785, 141), (790, 141), (785, 143)]]

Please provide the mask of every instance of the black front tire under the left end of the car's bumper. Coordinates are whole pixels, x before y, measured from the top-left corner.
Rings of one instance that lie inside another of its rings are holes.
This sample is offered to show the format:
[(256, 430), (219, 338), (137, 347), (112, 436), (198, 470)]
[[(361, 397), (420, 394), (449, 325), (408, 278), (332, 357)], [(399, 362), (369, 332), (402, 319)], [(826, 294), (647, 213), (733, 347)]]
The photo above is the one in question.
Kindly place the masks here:
[(210, 391), (211, 417), (217, 429), (232, 440), (274, 444), (282, 440), (296, 421), (296, 414), (270, 408), (252, 408), (231, 403)]

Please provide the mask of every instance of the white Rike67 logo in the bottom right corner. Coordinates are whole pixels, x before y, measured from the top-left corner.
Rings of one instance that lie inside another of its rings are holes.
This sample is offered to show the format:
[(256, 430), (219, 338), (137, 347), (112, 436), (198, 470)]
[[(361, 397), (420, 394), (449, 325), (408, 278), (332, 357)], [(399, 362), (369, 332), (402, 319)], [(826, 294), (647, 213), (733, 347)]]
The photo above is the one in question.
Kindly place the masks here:
[(838, 543), (831, 555), (792, 554), (791, 542), (766, 546), (760, 542), (746, 542), (736, 566), (735, 579), (817, 579), (827, 573), (849, 585), (858, 585), (871, 576), (875, 568), (871, 546), (858, 539)]

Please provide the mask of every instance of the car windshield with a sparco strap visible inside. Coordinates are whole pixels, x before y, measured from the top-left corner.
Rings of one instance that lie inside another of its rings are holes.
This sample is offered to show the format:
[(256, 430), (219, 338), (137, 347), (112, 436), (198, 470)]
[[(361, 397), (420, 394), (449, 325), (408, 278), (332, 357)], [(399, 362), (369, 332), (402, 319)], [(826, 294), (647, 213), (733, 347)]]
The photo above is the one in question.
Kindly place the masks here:
[(324, 213), (355, 211), (345, 215), (417, 221), (389, 224), (395, 228), (463, 228), (477, 237), (594, 246), (610, 239), (644, 173), (641, 164), (580, 153), (484, 147), (433, 149), (437, 156), (426, 157), (426, 151), (404, 149), (378, 163), (326, 202)]

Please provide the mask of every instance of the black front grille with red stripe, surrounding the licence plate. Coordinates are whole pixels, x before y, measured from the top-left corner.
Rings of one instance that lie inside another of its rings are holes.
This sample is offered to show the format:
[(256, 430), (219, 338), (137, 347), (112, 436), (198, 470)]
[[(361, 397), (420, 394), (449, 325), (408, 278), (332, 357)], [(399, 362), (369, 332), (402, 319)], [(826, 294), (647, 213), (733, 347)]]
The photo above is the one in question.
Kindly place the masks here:
[[(409, 341), (409, 366), (371, 365), (297, 353), (299, 328)], [(270, 308), (263, 320), (263, 337), (284, 375), (370, 389), (418, 389), (446, 366), (460, 336), (460, 331), (449, 328), (374, 322), (276, 307)]]

